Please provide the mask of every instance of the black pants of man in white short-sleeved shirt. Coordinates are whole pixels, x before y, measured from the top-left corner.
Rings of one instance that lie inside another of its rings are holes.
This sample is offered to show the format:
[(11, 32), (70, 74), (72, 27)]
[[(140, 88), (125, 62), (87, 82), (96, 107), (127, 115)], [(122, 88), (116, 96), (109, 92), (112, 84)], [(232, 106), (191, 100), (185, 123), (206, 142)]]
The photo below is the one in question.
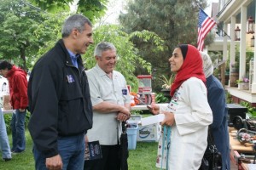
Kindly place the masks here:
[(120, 170), (119, 144), (101, 145), (102, 159), (84, 161), (84, 170)]

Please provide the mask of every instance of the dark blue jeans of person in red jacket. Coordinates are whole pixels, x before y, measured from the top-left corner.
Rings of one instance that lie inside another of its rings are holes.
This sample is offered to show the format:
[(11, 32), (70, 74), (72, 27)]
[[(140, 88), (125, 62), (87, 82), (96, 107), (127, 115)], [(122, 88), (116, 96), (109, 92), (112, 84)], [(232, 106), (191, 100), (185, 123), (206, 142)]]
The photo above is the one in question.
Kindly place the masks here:
[(12, 137), (13, 137), (13, 147), (12, 151), (21, 152), (26, 148), (26, 138), (25, 138), (25, 118), (26, 110), (20, 112), (18, 109), (15, 110), (11, 120)]

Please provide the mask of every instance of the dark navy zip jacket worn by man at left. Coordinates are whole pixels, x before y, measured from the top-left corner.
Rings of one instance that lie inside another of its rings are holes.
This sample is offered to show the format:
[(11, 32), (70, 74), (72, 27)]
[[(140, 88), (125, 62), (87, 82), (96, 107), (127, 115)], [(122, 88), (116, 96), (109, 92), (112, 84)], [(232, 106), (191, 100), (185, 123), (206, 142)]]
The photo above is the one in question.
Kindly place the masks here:
[(62, 40), (38, 59), (28, 82), (28, 128), (38, 150), (55, 156), (57, 139), (86, 133), (92, 127), (90, 89), (82, 64), (73, 66)]

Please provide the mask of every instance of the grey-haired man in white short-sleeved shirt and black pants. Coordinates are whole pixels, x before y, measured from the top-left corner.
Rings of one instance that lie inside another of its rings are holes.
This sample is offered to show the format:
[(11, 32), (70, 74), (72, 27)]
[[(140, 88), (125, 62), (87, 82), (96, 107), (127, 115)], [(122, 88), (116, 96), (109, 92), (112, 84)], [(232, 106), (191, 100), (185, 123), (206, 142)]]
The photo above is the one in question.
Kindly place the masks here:
[(102, 159), (86, 161), (85, 170), (119, 170), (119, 137), (121, 122), (130, 118), (130, 94), (125, 77), (114, 71), (116, 48), (110, 42), (97, 44), (94, 55), (96, 66), (86, 71), (93, 105), (93, 127), (87, 140), (99, 140)]

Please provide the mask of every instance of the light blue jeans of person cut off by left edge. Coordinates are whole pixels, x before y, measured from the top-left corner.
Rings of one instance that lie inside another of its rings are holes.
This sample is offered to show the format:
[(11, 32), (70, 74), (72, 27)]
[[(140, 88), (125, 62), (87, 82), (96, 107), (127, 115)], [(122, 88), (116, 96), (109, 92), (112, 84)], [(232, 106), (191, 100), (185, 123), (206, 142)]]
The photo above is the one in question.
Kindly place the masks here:
[(6, 132), (5, 122), (3, 119), (3, 112), (0, 108), (0, 147), (3, 158), (11, 158), (11, 151), (9, 147), (9, 139)]

